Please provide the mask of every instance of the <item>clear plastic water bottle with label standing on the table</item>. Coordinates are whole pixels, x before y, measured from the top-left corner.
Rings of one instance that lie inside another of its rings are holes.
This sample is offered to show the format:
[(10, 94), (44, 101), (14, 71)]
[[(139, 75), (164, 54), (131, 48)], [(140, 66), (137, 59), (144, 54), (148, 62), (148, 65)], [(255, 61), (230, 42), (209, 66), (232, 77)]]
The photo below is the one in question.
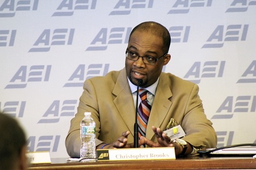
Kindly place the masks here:
[(90, 114), (90, 112), (85, 112), (80, 124), (80, 137), (82, 141), (80, 158), (96, 159), (96, 124)]

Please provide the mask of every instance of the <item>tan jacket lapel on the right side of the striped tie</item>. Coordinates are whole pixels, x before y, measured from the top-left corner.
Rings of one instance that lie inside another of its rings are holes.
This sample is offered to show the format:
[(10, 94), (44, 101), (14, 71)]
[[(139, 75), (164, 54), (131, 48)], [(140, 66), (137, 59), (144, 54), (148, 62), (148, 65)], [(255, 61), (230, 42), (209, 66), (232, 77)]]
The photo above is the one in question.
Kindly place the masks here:
[(147, 124), (146, 138), (152, 139), (154, 137), (154, 132), (151, 127), (155, 126), (159, 128), (164, 119), (168, 116), (168, 111), (170, 110), (172, 102), (169, 100), (172, 96), (170, 90), (170, 85), (164, 83), (163, 74), (160, 75), (158, 87), (156, 88), (154, 103), (152, 104), (150, 118)]

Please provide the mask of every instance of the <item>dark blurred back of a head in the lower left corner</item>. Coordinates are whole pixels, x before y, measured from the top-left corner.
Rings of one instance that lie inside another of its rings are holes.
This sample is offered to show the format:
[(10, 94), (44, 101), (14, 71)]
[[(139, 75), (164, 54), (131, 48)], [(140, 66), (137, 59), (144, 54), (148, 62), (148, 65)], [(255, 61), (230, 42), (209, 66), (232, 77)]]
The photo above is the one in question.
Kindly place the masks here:
[(14, 118), (0, 113), (0, 169), (26, 169), (26, 152), (23, 129)]

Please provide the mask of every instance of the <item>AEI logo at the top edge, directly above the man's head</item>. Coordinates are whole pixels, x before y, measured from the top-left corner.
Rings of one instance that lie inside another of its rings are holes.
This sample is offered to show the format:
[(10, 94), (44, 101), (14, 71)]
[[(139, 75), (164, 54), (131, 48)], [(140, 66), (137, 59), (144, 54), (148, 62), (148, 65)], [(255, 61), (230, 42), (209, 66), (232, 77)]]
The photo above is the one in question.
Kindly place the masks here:
[(129, 15), (132, 9), (152, 8), (154, 0), (119, 0), (109, 15)]

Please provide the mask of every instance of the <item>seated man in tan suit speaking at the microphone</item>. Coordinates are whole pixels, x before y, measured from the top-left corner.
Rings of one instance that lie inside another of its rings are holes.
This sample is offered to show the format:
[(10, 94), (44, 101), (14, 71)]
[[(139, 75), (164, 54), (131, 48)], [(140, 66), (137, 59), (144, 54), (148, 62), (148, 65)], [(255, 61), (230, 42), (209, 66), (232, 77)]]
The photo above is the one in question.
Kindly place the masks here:
[[(163, 66), (171, 59), (170, 42), (170, 33), (163, 25), (141, 23), (131, 32), (125, 69), (85, 81), (77, 114), (71, 120), (65, 141), (69, 156), (80, 157), (80, 122), (84, 112), (92, 112), (96, 122), (97, 148), (134, 147), (138, 83), (139, 88), (148, 90), (147, 99), (152, 106), (146, 136), (140, 137), (139, 146), (175, 147), (176, 155), (216, 147), (216, 133), (205, 116), (199, 87), (170, 73), (162, 73)], [(186, 133), (179, 141), (172, 141), (163, 133), (171, 118)]]

